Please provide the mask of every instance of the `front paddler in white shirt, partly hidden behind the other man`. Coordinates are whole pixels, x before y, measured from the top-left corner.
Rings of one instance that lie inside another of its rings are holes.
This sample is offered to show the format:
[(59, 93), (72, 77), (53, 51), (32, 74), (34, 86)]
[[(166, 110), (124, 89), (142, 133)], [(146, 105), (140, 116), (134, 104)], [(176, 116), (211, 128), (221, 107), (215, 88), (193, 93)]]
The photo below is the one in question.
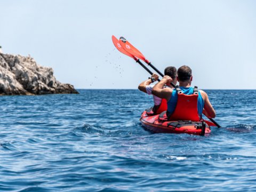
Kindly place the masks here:
[[(175, 67), (172, 67), (172, 66), (166, 67), (164, 69), (164, 75), (170, 76), (172, 78), (172, 83), (174, 85), (177, 84), (177, 69)], [(159, 78), (158, 75), (154, 73), (149, 79), (141, 82), (138, 89), (142, 92), (145, 92), (145, 93), (151, 95), (154, 85), (150, 85), (150, 84), (157, 81), (158, 78)], [(171, 82), (167, 82), (165, 87), (167, 87), (167, 86), (172, 87), (170, 83)], [(162, 102), (161, 98), (156, 97), (153, 94), (153, 99), (154, 99), (154, 107), (148, 111), (148, 114), (151, 114), (151, 115), (157, 114), (157, 111), (159, 111), (159, 110), (160, 110), (159, 113), (161, 113), (162, 112), (161, 109), (166, 108), (164, 106), (161, 107), (161, 104), (166, 106), (166, 102), (165, 103)]]

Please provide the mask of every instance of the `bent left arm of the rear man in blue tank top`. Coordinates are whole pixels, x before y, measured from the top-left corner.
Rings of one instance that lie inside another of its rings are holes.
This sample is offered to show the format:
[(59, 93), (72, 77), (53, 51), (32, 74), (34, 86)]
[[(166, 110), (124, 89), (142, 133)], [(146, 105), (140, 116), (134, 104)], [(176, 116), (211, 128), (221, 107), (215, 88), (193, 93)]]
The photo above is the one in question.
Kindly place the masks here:
[(169, 88), (163, 89), (163, 86), (166, 83), (170, 83), (170, 82), (172, 82), (172, 78), (165, 75), (163, 79), (153, 87), (152, 94), (156, 95), (159, 98), (166, 99), (167, 101), (169, 101), (172, 96), (172, 89), (169, 89)]

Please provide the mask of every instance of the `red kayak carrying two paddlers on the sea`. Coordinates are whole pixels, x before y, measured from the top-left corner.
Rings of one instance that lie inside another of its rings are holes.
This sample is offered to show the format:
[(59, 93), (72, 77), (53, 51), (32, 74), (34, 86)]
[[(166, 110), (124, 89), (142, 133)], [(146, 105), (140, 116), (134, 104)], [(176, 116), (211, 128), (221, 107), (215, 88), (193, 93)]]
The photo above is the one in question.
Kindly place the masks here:
[(147, 114), (145, 110), (140, 117), (140, 122), (145, 129), (154, 133), (187, 133), (194, 135), (209, 135), (210, 126), (215, 126), (209, 121), (167, 121), (165, 112), (158, 115)]

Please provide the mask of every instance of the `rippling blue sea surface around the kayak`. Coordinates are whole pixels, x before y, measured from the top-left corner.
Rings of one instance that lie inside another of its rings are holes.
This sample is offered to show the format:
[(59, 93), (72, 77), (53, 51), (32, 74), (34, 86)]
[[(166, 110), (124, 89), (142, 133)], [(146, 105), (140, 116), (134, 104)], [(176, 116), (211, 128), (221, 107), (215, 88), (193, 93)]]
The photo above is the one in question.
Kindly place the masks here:
[(0, 191), (256, 191), (256, 90), (205, 90), (209, 137), (150, 133), (138, 90), (0, 97)]

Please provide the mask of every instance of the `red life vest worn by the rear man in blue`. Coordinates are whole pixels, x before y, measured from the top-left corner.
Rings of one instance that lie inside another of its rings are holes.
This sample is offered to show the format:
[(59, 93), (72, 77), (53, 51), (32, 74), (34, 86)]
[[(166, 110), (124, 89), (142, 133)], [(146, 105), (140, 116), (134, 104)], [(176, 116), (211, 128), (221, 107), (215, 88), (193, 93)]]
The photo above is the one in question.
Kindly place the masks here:
[(178, 93), (178, 101), (173, 114), (169, 116), (169, 121), (200, 121), (197, 111), (198, 89), (194, 88), (193, 94), (186, 95), (182, 93), (179, 86), (175, 87)]

